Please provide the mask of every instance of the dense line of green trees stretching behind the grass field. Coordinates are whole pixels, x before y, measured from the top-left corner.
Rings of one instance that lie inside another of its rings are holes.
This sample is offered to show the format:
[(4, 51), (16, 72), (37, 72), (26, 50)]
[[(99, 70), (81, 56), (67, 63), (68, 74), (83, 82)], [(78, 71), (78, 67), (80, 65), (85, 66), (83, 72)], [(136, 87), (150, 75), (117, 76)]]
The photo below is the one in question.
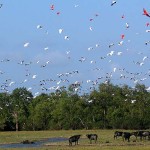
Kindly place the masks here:
[[(80, 86), (80, 85), (78, 85)], [(25, 87), (0, 93), (0, 130), (149, 129), (150, 93), (111, 82), (89, 93), (61, 87), (33, 97)]]

